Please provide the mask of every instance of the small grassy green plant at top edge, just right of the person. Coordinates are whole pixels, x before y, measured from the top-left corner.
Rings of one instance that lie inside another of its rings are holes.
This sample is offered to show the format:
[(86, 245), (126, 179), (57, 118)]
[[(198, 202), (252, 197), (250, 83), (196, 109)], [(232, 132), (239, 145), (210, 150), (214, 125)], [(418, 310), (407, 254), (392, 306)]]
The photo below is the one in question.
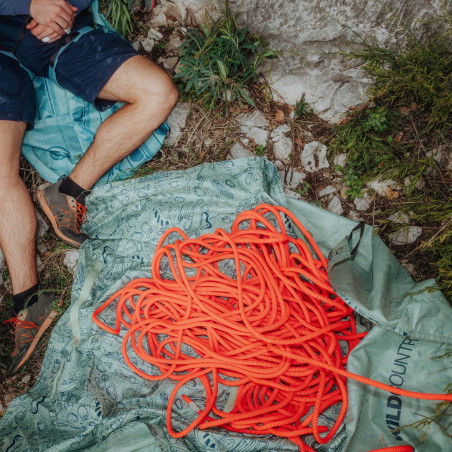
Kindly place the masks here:
[(111, 26), (122, 36), (127, 37), (133, 30), (135, 18), (133, 13), (149, 11), (153, 6), (152, 0), (101, 0), (100, 9)]

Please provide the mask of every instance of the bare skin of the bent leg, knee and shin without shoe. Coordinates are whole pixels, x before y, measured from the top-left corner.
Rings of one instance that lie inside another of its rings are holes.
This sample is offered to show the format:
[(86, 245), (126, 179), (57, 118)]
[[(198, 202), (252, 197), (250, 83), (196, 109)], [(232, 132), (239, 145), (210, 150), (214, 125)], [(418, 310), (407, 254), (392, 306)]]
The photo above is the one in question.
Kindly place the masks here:
[(70, 174), (90, 189), (113, 165), (129, 155), (168, 117), (178, 98), (170, 77), (144, 56), (125, 61), (98, 98), (125, 102), (97, 130), (92, 145)]

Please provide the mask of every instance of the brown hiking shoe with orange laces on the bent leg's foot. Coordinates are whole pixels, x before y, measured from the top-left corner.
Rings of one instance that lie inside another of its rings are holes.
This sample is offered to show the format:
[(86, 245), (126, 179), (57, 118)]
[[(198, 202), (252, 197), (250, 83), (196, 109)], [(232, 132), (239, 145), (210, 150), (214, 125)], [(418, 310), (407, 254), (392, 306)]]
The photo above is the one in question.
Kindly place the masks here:
[(59, 180), (56, 184), (38, 189), (36, 199), (56, 235), (68, 245), (79, 248), (87, 238), (80, 232), (85, 221), (86, 207), (72, 196), (60, 193), (61, 182)]

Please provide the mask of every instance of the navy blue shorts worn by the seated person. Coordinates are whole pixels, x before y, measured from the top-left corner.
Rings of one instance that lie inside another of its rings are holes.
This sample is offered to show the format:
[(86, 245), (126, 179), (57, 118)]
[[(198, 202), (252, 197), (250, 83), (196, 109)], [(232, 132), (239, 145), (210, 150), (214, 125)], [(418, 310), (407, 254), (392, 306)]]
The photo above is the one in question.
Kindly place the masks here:
[[(31, 45), (33, 39), (36, 41), (27, 34), (17, 47), (15, 55), (31, 72), (48, 76), (53, 52), (41, 43)], [(114, 72), (137, 54), (118, 35), (93, 28), (60, 52), (54, 68), (56, 79), (63, 88), (103, 109), (113, 102), (97, 99), (99, 92)], [(36, 99), (27, 72), (17, 61), (0, 52), (0, 74), (0, 119), (24, 121), (33, 125)]]

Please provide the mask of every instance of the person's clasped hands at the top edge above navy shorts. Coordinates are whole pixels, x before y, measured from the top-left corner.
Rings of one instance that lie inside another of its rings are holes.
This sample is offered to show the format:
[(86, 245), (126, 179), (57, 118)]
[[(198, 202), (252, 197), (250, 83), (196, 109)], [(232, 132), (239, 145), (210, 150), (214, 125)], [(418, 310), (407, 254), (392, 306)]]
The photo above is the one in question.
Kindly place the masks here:
[(31, 0), (30, 15), (40, 25), (47, 25), (55, 33), (69, 33), (77, 8), (64, 0)]

